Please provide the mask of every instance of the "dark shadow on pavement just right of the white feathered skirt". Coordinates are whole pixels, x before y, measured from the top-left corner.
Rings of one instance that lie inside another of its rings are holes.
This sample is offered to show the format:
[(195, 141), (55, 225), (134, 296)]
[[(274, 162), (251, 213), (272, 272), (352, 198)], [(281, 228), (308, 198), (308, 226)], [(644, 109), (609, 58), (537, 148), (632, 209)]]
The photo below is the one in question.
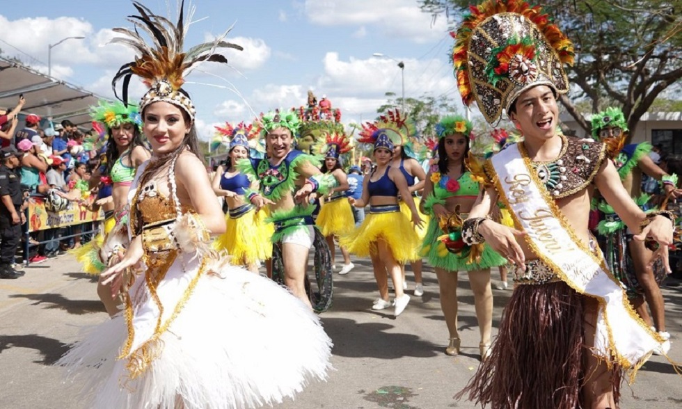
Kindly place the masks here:
[(417, 335), (386, 332), (388, 323), (356, 323), (352, 319), (324, 318), (324, 330), (334, 342), (332, 353), (349, 358), (399, 359), (439, 355), (438, 348)]

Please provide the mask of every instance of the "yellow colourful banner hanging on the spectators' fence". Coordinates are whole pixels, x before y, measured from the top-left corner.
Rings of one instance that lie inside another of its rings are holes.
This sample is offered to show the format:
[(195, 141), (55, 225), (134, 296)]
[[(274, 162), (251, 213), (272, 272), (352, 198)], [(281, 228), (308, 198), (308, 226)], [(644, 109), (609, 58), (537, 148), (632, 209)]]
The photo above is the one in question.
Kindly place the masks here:
[(29, 198), (29, 232), (38, 230), (54, 229), (104, 220), (104, 212), (90, 211), (86, 204), (69, 202), (67, 209), (53, 213), (45, 209), (45, 199)]

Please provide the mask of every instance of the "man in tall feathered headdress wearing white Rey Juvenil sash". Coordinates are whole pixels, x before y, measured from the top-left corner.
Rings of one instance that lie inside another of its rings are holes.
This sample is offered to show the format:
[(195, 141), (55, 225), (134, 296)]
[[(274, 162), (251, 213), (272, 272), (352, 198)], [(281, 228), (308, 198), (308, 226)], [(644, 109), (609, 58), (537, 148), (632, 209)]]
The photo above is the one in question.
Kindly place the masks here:
[[(633, 230), (660, 243), (667, 264), (672, 214), (647, 216), (620, 183), (605, 147), (557, 129), (562, 63), (573, 45), (541, 8), (486, 1), (464, 16), (453, 49), (465, 104), (486, 120), (505, 109), (524, 136), (470, 170), (486, 187), (463, 225), (516, 264), (515, 288), (493, 352), (459, 396), (493, 408), (616, 408), (622, 371), (635, 372), (663, 342), (633, 311), (587, 228), (593, 186)], [(500, 200), (514, 226), (488, 217)]]

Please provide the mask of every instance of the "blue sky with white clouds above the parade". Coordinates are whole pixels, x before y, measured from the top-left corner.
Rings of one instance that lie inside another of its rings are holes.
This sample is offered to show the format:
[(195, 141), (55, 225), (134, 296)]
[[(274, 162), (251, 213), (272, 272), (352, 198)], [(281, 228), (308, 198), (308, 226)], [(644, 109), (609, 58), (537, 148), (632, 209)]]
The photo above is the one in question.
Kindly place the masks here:
[[(168, 15), (165, 0), (141, 2)], [(175, 0), (170, 3), (175, 20)], [(445, 19), (434, 22), (416, 0), (195, 0), (191, 5), (196, 6), (193, 20), (200, 21), (189, 29), (188, 47), (232, 24), (228, 41), (244, 47), (224, 53), (231, 68), (209, 63), (201, 67), (205, 72), (187, 78), (184, 88), (197, 106), (203, 138), (225, 120), (251, 120), (254, 113), (278, 106), (301, 106), (308, 90), (318, 99), (326, 95), (342, 110), (345, 123), (372, 119), (386, 102), (386, 92), (401, 94), (396, 61), (373, 53), (404, 61), (406, 97), (446, 95), (459, 101)], [(9, 2), (0, 10), (0, 48), (3, 56), (47, 73), (48, 45), (83, 35), (84, 40), (52, 49), (52, 75), (113, 97), (113, 73), (133, 54), (107, 42), (116, 35), (113, 27), (132, 27), (125, 17), (134, 12), (128, 0)], [(141, 83), (131, 86), (136, 99), (143, 92)]]

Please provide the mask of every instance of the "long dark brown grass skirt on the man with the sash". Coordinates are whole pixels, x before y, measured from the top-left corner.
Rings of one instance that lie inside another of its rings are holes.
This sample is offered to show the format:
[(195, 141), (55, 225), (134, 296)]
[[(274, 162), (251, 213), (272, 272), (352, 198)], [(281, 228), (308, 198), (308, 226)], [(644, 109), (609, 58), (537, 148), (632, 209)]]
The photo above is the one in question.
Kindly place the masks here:
[[(585, 296), (564, 282), (519, 285), (502, 313), (491, 356), (479, 365), (461, 399), (491, 408), (584, 408)], [(594, 330), (594, 328), (592, 329)], [(614, 368), (614, 399), (619, 372)]]

